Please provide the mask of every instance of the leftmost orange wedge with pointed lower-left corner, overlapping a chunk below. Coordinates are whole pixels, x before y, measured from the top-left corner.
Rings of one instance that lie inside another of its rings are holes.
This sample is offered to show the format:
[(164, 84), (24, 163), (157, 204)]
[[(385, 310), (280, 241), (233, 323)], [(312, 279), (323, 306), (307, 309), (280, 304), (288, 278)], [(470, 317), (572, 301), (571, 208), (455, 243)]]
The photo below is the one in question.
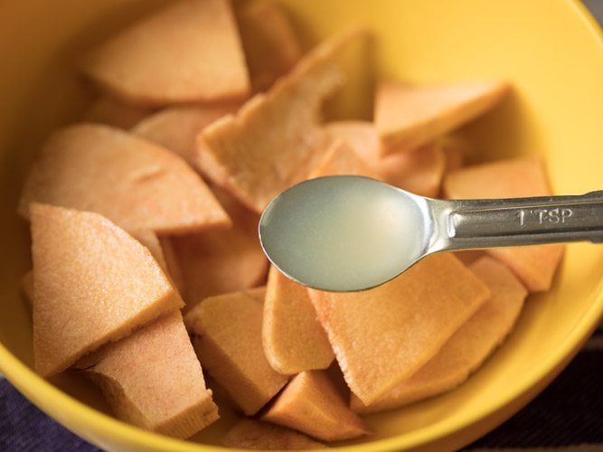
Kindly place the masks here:
[(98, 213), (33, 204), (32, 255), (43, 376), (184, 305), (149, 250)]

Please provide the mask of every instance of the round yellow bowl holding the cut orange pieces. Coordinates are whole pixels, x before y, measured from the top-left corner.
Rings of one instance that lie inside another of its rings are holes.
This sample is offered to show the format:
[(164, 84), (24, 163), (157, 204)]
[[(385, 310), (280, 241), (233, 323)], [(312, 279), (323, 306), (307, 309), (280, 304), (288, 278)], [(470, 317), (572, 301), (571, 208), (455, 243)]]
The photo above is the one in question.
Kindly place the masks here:
[[(0, 371), (81, 437), (107, 449), (211, 450), (132, 428), (106, 414), (77, 376), (52, 383), (31, 370), (31, 322), (18, 281), (28, 268), (27, 229), (14, 213), (27, 165), (43, 137), (77, 118), (86, 98), (70, 61), (159, 0), (29, 0), (0, 6)], [(513, 96), (463, 133), (475, 160), (544, 155), (557, 193), (603, 188), (603, 40), (571, 0), (285, 0), (316, 40), (346, 24), (374, 34), (379, 75), (417, 82), (503, 77)], [(362, 96), (358, 96), (360, 99)], [(358, 102), (346, 99), (350, 108)], [(460, 447), (519, 410), (561, 371), (603, 313), (603, 246), (569, 246), (554, 288), (531, 297), (509, 340), (456, 391), (368, 418), (376, 434), (348, 450)], [(231, 419), (195, 440), (216, 444)]]

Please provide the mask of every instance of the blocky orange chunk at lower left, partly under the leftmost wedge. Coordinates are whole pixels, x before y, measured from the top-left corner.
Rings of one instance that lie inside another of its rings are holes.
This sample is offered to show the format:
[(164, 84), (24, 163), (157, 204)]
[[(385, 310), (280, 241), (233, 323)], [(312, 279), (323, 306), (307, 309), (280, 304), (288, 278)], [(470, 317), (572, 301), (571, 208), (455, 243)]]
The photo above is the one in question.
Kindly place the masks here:
[(179, 311), (109, 344), (87, 372), (137, 427), (188, 438), (219, 418)]

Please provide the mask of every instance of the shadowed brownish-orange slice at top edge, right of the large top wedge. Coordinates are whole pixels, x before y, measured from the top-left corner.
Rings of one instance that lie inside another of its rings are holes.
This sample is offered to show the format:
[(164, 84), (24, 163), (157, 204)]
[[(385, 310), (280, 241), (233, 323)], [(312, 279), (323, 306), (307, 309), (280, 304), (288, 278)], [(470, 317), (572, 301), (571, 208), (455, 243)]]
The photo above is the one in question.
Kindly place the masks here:
[(293, 68), (301, 45), (287, 12), (272, 0), (247, 2), (238, 18), (251, 86), (263, 91)]

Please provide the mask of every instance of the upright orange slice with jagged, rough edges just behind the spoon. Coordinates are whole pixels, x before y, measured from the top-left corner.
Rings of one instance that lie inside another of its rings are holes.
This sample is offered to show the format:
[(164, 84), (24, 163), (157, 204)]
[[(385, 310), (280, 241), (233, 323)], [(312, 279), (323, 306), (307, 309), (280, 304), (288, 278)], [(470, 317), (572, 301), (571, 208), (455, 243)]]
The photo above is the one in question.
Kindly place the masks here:
[(266, 94), (205, 128), (198, 140), (203, 173), (256, 212), (304, 180), (327, 146), (318, 121), (323, 99), (342, 79), (336, 57), (357, 35), (318, 45)]

